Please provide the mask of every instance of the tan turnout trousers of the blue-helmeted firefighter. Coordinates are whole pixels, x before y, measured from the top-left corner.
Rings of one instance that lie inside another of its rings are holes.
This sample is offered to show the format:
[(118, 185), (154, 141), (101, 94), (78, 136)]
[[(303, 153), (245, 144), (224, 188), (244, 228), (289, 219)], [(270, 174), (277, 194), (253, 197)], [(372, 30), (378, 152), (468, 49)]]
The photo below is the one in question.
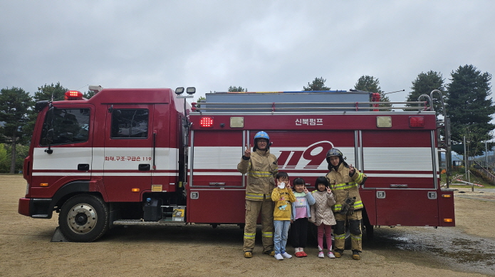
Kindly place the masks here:
[[(266, 197), (265, 197), (266, 198)], [(244, 252), (253, 251), (254, 238), (256, 236), (256, 221), (261, 211), (261, 241), (263, 252), (273, 251), (273, 201), (246, 200), (246, 221), (244, 225)]]

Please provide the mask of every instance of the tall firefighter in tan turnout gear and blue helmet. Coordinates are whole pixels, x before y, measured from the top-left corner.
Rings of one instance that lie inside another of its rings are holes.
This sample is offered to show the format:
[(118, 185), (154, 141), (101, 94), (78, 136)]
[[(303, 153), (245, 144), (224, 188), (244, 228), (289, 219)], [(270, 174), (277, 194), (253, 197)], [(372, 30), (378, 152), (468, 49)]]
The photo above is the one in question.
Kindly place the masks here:
[(261, 211), (263, 253), (274, 256), (273, 251), (273, 201), (271, 192), (278, 172), (277, 158), (270, 154), (270, 137), (266, 132), (254, 135), (253, 151), (246, 150), (237, 170), (248, 174), (246, 184), (246, 219), (244, 226), (244, 257), (251, 258), (256, 236), (256, 221)]

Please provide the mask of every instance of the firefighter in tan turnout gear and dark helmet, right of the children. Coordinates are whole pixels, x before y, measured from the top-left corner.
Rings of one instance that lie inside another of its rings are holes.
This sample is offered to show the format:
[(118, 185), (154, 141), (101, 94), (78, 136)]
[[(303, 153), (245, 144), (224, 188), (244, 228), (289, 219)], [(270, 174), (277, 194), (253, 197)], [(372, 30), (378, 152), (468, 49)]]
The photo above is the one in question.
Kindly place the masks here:
[(344, 162), (342, 152), (336, 148), (328, 150), (326, 155), (328, 169), (326, 175), (328, 183), (335, 195), (333, 213), (335, 215), (335, 227), (333, 237), (335, 239), (335, 257), (340, 258), (345, 247), (345, 221), (349, 221), (351, 249), (353, 259), (360, 260), (360, 252), (363, 251), (361, 234), (361, 219), (363, 219), (363, 202), (359, 195), (359, 185), (363, 184), (366, 175), (360, 173), (352, 164)]

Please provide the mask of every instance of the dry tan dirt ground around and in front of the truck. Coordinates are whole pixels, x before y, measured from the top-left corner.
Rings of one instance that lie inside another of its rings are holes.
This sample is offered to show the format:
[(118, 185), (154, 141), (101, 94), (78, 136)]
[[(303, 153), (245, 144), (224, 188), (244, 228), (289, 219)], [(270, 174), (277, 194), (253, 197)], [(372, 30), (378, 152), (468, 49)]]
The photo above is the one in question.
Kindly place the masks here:
[[(307, 258), (276, 261), (261, 254), (261, 241), (256, 241), (254, 257), (246, 259), (243, 232), (229, 225), (130, 226), (112, 229), (89, 244), (55, 243), (50, 240), (57, 214), (31, 219), (17, 213), (26, 189), (21, 176), (0, 175), (0, 189), (0, 276), (483, 276), (441, 264), (415, 264), (407, 257), (401, 261), (367, 250), (366, 243), (361, 261), (350, 258), (350, 251), (342, 258), (317, 258), (316, 249), (306, 249)], [(495, 228), (495, 202), (465, 198), (478, 197), (479, 189), (463, 191), (455, 193), (454, 228), (495, 239), (487, 231)], [(493, 192), (482, 195), (495, 197)]]

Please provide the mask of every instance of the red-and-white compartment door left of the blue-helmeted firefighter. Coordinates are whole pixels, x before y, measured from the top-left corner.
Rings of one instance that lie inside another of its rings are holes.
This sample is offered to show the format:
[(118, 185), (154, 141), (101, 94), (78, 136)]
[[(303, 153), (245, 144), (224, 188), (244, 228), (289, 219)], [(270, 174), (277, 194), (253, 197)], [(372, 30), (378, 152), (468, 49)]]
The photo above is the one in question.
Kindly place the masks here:
[(239, 131), (192, 131), (187, 221), (244, 222), (246, 187), (237, 164), (244, 151)]

